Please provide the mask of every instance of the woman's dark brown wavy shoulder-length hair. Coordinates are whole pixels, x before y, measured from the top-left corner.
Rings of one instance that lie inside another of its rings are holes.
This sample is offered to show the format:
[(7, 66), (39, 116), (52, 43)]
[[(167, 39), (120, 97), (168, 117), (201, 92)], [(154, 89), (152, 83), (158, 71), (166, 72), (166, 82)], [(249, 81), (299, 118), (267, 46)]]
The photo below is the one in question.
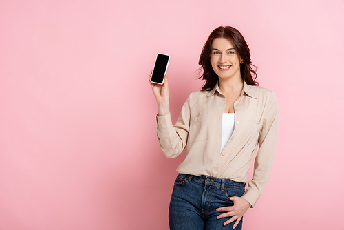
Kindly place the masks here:
[[(206, 43), (203, 46), (200, 61), (198, 61), (198, 64), (201, 65), (200, 73), (202, 72), (202, 76), (200, 76), (199, 79), (205, 80), (202, 90), (212, 90), (219, 80), (219, 76), (217, 76), (213, 67), (211, 67), (211, 45), (213, 40), (217, 38), (226, 38), (232, 41), (235, 46), (235, 50), (237, 50), (237, 53), (243, 60), (243, 63), (240, 64), (241, 77), (248, 85), (258, 85), (255, 81), (255, 79), (257, 79), (257, 73), (255, 72), (257, 67), (251, 63), (250, 48), (248, 48), (244, 36), (241, 35), (239, 30), (231, 26), (219, 26), (209, 35), (208, 40), (206, 40)], [(252, 67), (254, 67), (255, 70), (253, 70)], [(255, 79), (253, 79), (252, 75), (255, 76)]]

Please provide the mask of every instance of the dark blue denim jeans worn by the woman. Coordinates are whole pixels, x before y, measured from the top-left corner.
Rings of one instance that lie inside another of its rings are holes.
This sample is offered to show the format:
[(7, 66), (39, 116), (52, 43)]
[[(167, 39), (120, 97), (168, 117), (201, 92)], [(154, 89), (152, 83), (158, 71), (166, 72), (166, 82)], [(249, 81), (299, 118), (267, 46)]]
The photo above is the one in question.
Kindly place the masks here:
[[(175, 179), (169, 207), (171, 230), (233, 229), (234, 222), (224, 226), (229, 218), (217, 219), (224, 211), (219, 207), (232, 206), (231, 196), (242, 196), (245, 183), (211, 176), (179, 174)], [(235, 227), (242, 227), (242, 218)]]

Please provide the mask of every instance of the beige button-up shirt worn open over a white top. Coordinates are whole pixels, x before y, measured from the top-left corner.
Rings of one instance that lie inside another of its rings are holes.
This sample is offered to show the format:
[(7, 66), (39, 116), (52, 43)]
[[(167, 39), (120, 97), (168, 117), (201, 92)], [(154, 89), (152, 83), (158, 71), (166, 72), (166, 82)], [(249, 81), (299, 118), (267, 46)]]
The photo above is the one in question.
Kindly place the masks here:
[(233, 134), (220, 152), (225, 106), (226, 98), (218, 85), (211, 91), (190, 94), (174, 126), (170, 114), (156, 116), (158, 140), (168, 158), (175, 158), (186, 147), (186, 158), (177, 169), (182, 174), (247, 182), (255, 158), (252, 180), (242, 196), (253, 207), (268, 182), (275, 155), (277, 101), (270, 90), (244, 83), (234, 103)]

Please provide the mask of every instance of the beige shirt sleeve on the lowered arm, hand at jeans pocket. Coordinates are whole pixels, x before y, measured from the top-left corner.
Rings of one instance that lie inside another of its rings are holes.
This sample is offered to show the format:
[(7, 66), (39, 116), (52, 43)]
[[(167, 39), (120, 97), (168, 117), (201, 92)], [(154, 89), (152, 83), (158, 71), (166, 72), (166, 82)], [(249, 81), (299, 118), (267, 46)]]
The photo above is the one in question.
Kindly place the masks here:
[(279, 109), (275, 94), (273, 93), (271, 93), (266, 103), (262, 122), (263, 127), (258, 138), (259, 150), (255, 158), (253, 177), (248, 182), (248, 187), (242, 196), (242, 198), (250, 203), (251, 207), (255, 206), (255, 203), (268, 183), (275, 156)]

